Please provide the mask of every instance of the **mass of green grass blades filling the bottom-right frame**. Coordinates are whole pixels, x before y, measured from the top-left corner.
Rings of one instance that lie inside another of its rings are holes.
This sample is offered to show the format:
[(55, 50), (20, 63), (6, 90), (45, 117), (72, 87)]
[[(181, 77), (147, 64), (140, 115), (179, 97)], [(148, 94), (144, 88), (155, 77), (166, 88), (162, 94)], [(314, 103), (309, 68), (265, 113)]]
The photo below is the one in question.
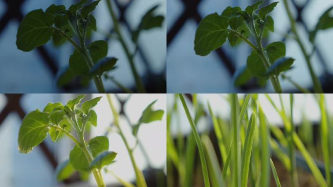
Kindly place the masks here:
[[(281, 173), (277, 173), (271, 159), (273, 157), (279, 160), (278, 163), (287, 169), (288, 172), (283, 173), (283, 176), (288, 175), (290, 178), (288, 186), (298, 187), (296, 152), (303, 156), (309, 172), (312, 173), (320, 187), (330, 187), (332, 185), (330, 177), (324, 177), (329, 175), (332, 162), (330, 162), (331, 148), (329, 147), (330, 137), (328, 136), (328, 128), (331, 124), (327, 117), (324, 95), (318, 94), (316, 97), (321, 112), (320, 141), (318, 143), (309, 142), (309, 140), (314, 141), (312, 137), (314, 134), (307, 130), (306, 135), (311, 135), (311, 137), (304, 139), (306, 144), (303, 143), (303, 139), (298, 136), (295, 130), (293, 112), (296, 95), (289, 94), (288, 102), (282, 100), (282, 94), (277, 95), (279, 100), (275, 103), (271, 95), (265, 94), (265, 97), (281, 118), (284, 130), (269, 123), (269, 119), (267, 119), (258, 100), (262, 94), (246, 94), (240, 98), (238, 96), (238, 94), (228, 94), (228, 96), (223, 97), (229, 102), (223, 107), (230, 108), (229, 117), (223, 119), (219, 115), (219, 111), (213, 112), (209, 102), (204, 101), (207, 107), (205, 108), (201, 103), (203, 101), (199, 100), (197, 95), (193, 95), (193, 108), (191, 109), (192, 112), (195, 112), (193, 119), (184, 96), (177, 94), (175, 99), (178, 100), (179, 98), (182, 102), (191, 127), (191, 133), (187, 138), (182, 135), (183, 145), (175, 144), (172, 141), (169, 132), (170, 118), (173, 115), (179, 117), (180, 111), (174, 110), (175, 107), (170, 108), (169, 111), (172, 115), (167, 115), (167, 158), (176, 168), (175, 171), (170, 170), (171, 174), (174, 174), (172, 179), (176, 181), (168, 184), (169, 187), (175, 185), (180, 187), (196, 185), (204, 187), (210, 185), (212, 187), (266, 187), (273, 183), (280, 187), (281, 184), (277, 174), (281, 175)], [(204, 109), (207, 109), (207, 111), (204, 111)], [(204, 129), (199, 135), (197, 123), (200, 119), (205, 119), (201, 122), (206, 122), (206, 126), (203, 126)], [(211, 124), (207, 122), (211, 122)], [(308, 123), (307, 125), (312, 128), (311, 122), (308, 121)], [(311, 134), (309, 134), (310, 132)], [(273, 134), (272, 137), (271, 133)], [(304, 135), (302, 134), (302, 137)], [(308, 145), (310, 147), (307, 147)], [(182, 149), (180, 149), (180, 146), (182, 146)], [(308, 148), (311, 147), (313, 149), (326, 148), (321, 155), (319, 154), (324, 161), (325, 175), (320, 172), (315, 162), (315, 159), (320, 157), (313, 157), (314, 155), (310, 154)], [(197, 150), (199, 153), (198, 159), (195, 156)], [(200, 165), (196, 163), (200, 163)], [(180, 172), (181, 167), (184, 170)], [(270, 169), (272, 169), (274, 181), (270, 181)], [(182, 179), (182, 177), (185, 177), (185, 179)], [(303, 180), (303, 178), (300, 178), (300, 180)], [(169, 183), (170, 181), (168, 180)], [(179, 183), (176, 184), (175, 182)]]

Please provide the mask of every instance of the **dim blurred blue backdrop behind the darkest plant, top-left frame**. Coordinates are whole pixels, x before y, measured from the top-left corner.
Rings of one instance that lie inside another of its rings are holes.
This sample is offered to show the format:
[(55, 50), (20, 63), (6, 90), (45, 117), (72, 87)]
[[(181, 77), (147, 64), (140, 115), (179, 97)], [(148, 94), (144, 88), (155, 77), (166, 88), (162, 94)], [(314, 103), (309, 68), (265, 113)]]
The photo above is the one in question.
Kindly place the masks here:
[[(78, 0), (0, 0), (0, 93), (94, 93), (91, 83), (83, 88), (74, 80), (65, 88), (56, 86), (56, 76), (68, 67), (68, 60), (74, 49), (66, 43), (54, 47), (52, 41), (34, 49), (22, 52), (16, 47), (16, 34), (20, 20), (28, 12), (49, 5), (64, 4), (67, 8)], [(92, 1), (92, 0), (88, 0)], [(154, 5), (159, 4), (156, 13), (166, 16), (166, 0), (111, 0), (121, 18), (122, 32), (130, 51), (134, 51), (130, 31), (140, 23), (142, 16)], [(127, 86), (134, 88), (134, 79), (126, 55), (112, 33), (112, 21), (106, 2), (102, 0), (93, 12), (97, 20), (97, 32), (90, 41), (105, 39), (109, 43), (108, 56), (117, 57), (117, 69), (110, 75)], [(139, 74), (143, 77), (148, 93), (166, 93), (166, 23), (162, 28), (151, 29), (139, 37), (139, 48), (134, 57)], [(122, 93), (110, 80), (104, 81), (109, 93)]]

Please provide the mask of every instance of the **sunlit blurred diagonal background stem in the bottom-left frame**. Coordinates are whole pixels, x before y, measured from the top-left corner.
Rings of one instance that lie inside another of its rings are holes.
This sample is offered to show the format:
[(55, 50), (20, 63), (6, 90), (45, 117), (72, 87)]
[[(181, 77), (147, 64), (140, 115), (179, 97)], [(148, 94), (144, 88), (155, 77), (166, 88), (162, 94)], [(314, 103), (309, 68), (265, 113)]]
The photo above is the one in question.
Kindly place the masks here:
[(114, 108), (114, 105), (113, 105), (112, 100), (111, 100), (111, 96), (110, 96), (110, 94), (106, 94), (106, 95), (107, 95), (108, 102), (109, 102), (109, 105), (110, 105), (110, 108), (111, 108), (111, 111), (112, 111), (113, 123), (117, 127), (117, 129), (119, 131), (119, 135), (123, 139), (123, 142), (126, 146), (126, 149), (129, 152), (130, 161), (132, 162), (132, 166), (134, 168), (134, 172), (135, 172), (135, 175), (136, 175), (136, 185), (138, 187), (147, 187), (144, 175), (143, 175), (142, 171), (137, 167), (137, 165), (135, 163), (135, 160), (134, 160), (132, 150), (129, 148), (129, 144), (127, 142), (127, 139), (125, 138), (124, 133), (123, 133), (123, 131), (121, 130), (121, 128), (119, 126), (119, 121), (118, 121), (119, 114), (118, 114), (118, 112), (116, 112), (116, 110)]

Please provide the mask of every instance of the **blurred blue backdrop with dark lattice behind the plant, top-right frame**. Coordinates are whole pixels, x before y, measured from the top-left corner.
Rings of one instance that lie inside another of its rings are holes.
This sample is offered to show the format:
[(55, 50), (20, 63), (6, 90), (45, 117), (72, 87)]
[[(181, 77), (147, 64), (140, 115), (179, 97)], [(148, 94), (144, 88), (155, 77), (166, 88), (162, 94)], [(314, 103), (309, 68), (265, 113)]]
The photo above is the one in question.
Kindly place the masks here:
[[(167, 0), (167, 93), (272, 93), (270, 82), (261, 88), (255, 80), (241, 88), (233, 85), (233, 74), (246, 64), (251, 49), (241, 43), (231, 48), (226, 42), (208, 56), (197, 56), (194, 52), (194, 36), (200, 20), (208, 14), (221, 14), (227, 6), (246, 6), (257, 0)], [(274, 1), (277, 4), (271, 16), (275, 32), (269, 33), (264, 43), (285, 41), (286, 56), (295, 58), (295, 67), (286, 75), (303, 87), (312, 88), (312, 81), (306, 62), (295, 39), (290, 37), (290, 23), (281, 0), (265, 0), (264, 5)], [(288, 0), (297, 27), (308, 53), (312, 50), (308, 31), (314, 30), (319, 17), (333, 5), (332, 0)], [(332, 14), (331, 14), (332, 15)], [(333, 31), (320, 31), (315, 42), (311, 62), (316, 75), (320, 76), (326, 93), (331, 93), (333, 72)], [(299, 92), (281, 80), (285, 93)]]

